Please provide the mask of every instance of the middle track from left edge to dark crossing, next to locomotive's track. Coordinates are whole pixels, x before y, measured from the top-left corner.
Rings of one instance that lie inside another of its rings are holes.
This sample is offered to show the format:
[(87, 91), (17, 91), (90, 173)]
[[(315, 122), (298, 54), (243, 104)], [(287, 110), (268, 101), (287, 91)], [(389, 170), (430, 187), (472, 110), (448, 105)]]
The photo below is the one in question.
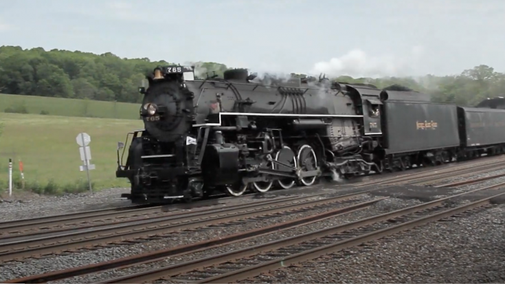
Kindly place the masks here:
[[(280, 214), (291, 214), (295, 210), (299, 210), (300, 212), (300, 210), (333, 207), (339, 203), (344, 204), (344, 201), (352, 201), (353, 198), (366, 196), (368, 192), (351, 193), (324, 199), (318, 199), (324, 193), (303, 197), (286, 197), (271, 201), (255, 202), (254, 204), (240, 204), (238, 206), (229, 206), (227, 208), (205, 210), (184, 215), (127, 222), (120, 224), (120, 226), (115, 224), (114, 226), (102, 226), (103, 228), (90, 228), (89, 230), (73, 229), (71, 232), (45, 237), (38, 237), (39, 234), (31, 234), (28, 236), (29, 239), (19, 240), (20, 237), (4, 238), (1, 239), (3, 242), (0, 243), (0, 261), (19, 261), (27, 257), (58, 254), (80, 248), (108, 245), (114, 242), (131, 244), (135, 243), (135, 241), (128, 242), (128, 240), (142, 237), (157, 239), (170, 232), (211, 226), (216, 223), (228, 223), (253, 217), (279, 217)], [(229, 223), (229, 226), (232, 225), (233, 223)]]

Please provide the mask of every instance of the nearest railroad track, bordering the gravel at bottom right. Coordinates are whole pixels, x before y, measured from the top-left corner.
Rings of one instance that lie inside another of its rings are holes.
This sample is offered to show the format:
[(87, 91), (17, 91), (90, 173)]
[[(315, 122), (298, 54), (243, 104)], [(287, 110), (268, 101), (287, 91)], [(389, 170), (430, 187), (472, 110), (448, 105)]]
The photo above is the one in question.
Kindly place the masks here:
[[(505, 183), (500, 186), (505, 186)], [(491, 199), (502, 197), (505, 193), (486, 197), (469, 204), (462, 204), (456, 208), (448, 208), (445, 202), (455, 197), (493, 187), (495, 186), (487, 186), (352, 223), (280, 239), (243, 250), (234, 250), (203, 259), (178, 263), (157, 270), (112, 278), (99, 283), (143, 283), (160, 280), (163, 280), (164, 283), (236, 283), (258, 276), (263, 272), (317, 259), (326, 254), (388, 237), (429, 222), (489, 208), (492, 206)]]

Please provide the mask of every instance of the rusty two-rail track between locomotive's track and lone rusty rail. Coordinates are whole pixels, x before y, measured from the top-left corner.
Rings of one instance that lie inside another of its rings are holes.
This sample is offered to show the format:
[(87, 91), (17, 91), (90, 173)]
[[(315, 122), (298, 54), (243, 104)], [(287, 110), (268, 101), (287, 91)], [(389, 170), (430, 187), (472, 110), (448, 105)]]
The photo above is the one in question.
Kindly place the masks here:
[[(309, 197), (291, 197), (288, 200), (270, 201), (262, 204), (242, 205), (240, 208), (223, 208), (216, 210), (210, 215), (210, 212), (197, 212), (192, 215), (182, 215), (181, 217), (169, 217), (155, 221), (146, 220), (144, 223), (135, 225), (122, 225), (113, 228), (99, 228), (87, 232), (73, 232), (56, 237), (44, 237), (30, 239), (27, 241), (17, 241), (11, 243), (2, 243), (0, 250), (0, 261), (19, 260), (30, 256), (40, 256), (44, 254), (54, 254), (65, 250), (76, 248), (86, 248), (87, 246), (96, 246), (100, 244), (112, 243), (113, 241), (125, 241), (138, 237), (149, 237), (156, 234), (167, 234), (176, 230), (196, 228), (207, 226), (214, 223), (223, 223), (236, 219), (245, 219), (260, 215), (273, 214), (276, 212), (289, 212), (298, 208), (313, 208), (323, 204), (332, 204), (337, 201), (351, 199), (369, 193), (369, 190), (340, 195), (326, 199), (310, 199)], [(318, 194), (323, 195), (324, 193)], [(317, 195), (315, 195), (317, 196)], [(21, 245), (21, 246), (20, 246)]]

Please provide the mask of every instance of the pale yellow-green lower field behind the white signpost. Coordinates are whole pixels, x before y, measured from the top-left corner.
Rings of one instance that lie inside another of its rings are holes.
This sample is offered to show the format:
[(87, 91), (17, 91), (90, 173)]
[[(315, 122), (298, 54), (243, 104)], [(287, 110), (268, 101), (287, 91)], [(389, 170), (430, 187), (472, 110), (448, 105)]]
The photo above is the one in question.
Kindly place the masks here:
[[(10, 97), (5, 98), (5, 95), (1, 95), (0, 105), (3, 106), (5, 100), (12, 101)], [(41, 102), (38, 106), (36, 99)], [(142, 120), (65, 117), (63, 115), (69, 110), (63, 105), (71, 105), (65, 99), (34, 97), (34, 100), (30, 100), (32, 109), (47, 108), (49, 111), (51, 109), (48, 106), (55, 102), (61, 102), (61, 105), (54, 106), (53, 113), (60, 110), (61, 116), (0, 112), (0, 124), (3, 124), (0, 136), (0, 186), (7, 186), (9, 158), (16, 162), (14, 175), (18, 177), (18, 160), (23, 161), (27, 184), (47, 184), (50, 179), (54, 179), (60, 189), (76, 184), (78, 179), (84, 179), (87, 184), (86, 172), (79, 171), (82, 162), (76, 135), (80, 132), (91, 135), (91, 162), (96, 164), (96, 170), (91, 171), (91, 180), (95, 188), (129, 186), (126, 180), (115, 177), (116, 145), (118, 141), (125, 141), (129, 131), (143, 128)], [(100, 102), (91, 101), (91, 104), (96, 104), (99, 113), (102, 106)], [(124, 117), (132, 113), (135, 116), (137, 109), (125, 108), (124, 112)]]

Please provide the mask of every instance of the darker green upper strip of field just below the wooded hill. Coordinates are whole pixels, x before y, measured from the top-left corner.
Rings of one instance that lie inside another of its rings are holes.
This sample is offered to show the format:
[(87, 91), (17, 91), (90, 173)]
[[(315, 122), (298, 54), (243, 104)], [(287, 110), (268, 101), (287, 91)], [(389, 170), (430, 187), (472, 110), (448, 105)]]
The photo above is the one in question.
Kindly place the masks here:
[(41, 114), (41, 111), (45, 111), (51, 116), (120, 118), (128, 120), (139, 118), (139, 104), (0, 94), (0, 112), (4, 112), (7, 108), (16, 108), (21, 105), (25, 105), (28, 113), (32, 114)]

